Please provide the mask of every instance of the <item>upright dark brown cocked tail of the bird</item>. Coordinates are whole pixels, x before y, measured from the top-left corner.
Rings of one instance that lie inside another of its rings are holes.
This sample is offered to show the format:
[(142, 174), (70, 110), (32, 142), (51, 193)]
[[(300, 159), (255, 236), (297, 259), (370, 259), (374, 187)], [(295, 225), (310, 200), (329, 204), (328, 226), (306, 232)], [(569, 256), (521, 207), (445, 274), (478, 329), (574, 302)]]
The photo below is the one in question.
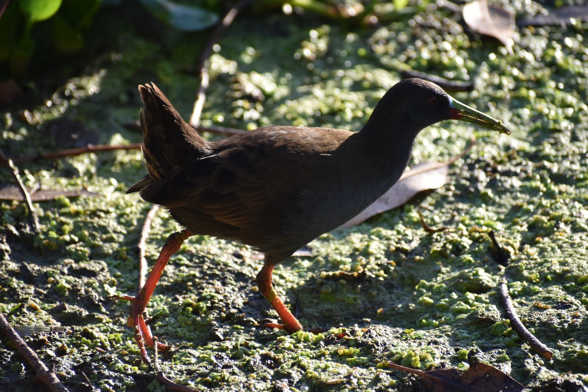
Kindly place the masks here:
[(206, 142), (173, 108), (155, 83), (139, 86), (144, 108), (141, 110), (143, 156), (152, 181), (169, 178), (205, 155)]

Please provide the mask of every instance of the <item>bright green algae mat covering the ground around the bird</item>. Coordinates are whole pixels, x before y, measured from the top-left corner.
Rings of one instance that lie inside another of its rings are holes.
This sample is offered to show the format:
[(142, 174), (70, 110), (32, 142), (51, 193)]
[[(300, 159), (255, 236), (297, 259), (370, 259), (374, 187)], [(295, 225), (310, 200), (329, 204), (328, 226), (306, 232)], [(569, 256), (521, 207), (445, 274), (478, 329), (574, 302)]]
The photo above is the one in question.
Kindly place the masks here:
[[(530, 1), (504, 6), (517, 19), (543, 12)], [(128, 303), (109, 299), (136, 293), (137, 244), (151, 206), (125, 191), (145, 174), (141, 152), (18, 162), (140, 142), (128, 126), (138, 120), (140, 83), (157, 83), (189, 118), (208, 35), (155, 21), (152, 29), (131, 15), (102, 9), (82, 52), (55, 59), (28, 83), (30, 99), (1, 109), (0, 148), (28, 188), (96, 194), (34, 202), (39, 234), (22, 202), (0, 203), (0, 310), (71, 391), (165, 390), (136, 377), (153, 370), (126, 326)], [(416, 391), (419, 378), (386, 362), (466, 370), (482, 361), (529, 390), (586, 390), (587, 30), (579, 20), (517, 28), (509, 53), (442, 4), (367, 27), (311, 14), (239, 15), (213, 48), (203, 126), (358, 130), (400, 72), (413, 68), (475, 82), (474, 91), (452, 95), (503, 120), (512, 135), (460, 122), (425, 129), (411, 166), (452, 159), (476, 138), (445, 186), (324, 234), (309, 244), (310, 256), (276, 267), (276, 290), (305, 327), (330, 328), (324, 333), (260, 329), (276, 317), (255, 287), (260, 255), (191, 237), (148, 306), (154, 333), (175, 347), (161, 354), (163, 373), (212, 391)], [(8, 169), (0, 182), (13, 182)], [(445, 230), (427, 232), (421, 216)], [(146, 246), (151, 263), (178, 229), (159, 210)], [(495, 262), (490, 231), (507, 267)], [(552, 359), (506, 319), (498, 294), (505, 270), (520, 319)], [(1, 338), (0, 389), (45, 388)]]

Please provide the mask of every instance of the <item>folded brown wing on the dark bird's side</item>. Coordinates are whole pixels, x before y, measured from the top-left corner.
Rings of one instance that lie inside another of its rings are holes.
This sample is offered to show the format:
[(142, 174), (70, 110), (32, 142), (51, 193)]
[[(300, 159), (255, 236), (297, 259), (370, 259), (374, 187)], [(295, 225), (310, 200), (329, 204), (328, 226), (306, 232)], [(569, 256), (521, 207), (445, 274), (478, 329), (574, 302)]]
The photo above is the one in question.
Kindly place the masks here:
[[(318, 187), (315, 199), (331, 192), (316, 184), (327, 183), (334, 170), (341, 171), (328, 152), (336, 154), (349, 135), (344, 130), (294, 127), (246, 132), (215, 143), (211, 155), (151, 183), (141, 196), (167, 207), (180, 222), (182, 215), (189, 215), (191, 225), (198, 225), (194, 221), (202, 216), (209, 226), (220, 222), (248, 232), (280, 232), (286, 216), (299, 215), (304, 189)], [(338, 165), (347, 165), (349, 159), (343, 161)]]

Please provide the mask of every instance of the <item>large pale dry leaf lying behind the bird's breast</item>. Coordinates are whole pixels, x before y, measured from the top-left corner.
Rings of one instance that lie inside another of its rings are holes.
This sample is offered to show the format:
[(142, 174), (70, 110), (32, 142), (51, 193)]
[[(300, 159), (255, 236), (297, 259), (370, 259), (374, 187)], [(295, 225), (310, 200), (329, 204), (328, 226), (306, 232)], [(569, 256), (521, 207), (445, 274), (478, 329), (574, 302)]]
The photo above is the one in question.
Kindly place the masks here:
[(388, 192), (341, 227), (359, 225), (372, 216), (402, 206), (423, 190), (437, 189), (445, 185), (449, 171), (447, 166), (451, 163), (453, 159), (447, 162), (421, 163), (412, 167)]

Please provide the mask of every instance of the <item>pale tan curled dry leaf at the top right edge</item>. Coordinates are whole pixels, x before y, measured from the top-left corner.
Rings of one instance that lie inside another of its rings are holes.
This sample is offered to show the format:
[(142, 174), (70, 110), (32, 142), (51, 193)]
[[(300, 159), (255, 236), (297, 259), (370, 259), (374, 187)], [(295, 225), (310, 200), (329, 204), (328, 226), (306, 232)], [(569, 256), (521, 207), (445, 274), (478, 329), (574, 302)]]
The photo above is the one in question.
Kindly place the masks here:
[(463, 6), (463, 19), (470, 29), (498, 39), (513, 53), (515, 18), (505, 9), (488, 5), (487, 0), (476, 0)]

